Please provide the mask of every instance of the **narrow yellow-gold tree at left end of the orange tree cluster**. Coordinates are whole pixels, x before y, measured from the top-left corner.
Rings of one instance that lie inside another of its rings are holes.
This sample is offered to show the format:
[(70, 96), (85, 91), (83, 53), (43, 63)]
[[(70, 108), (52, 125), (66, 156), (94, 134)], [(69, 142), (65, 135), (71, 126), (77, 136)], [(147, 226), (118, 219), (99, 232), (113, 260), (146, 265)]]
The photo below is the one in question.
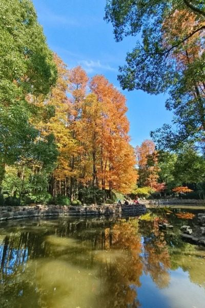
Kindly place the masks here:
[[(49, 99), (33, 101), (39, 109), (38, 117), (35, 116), (33, 123), (43, 136), (52, 134), (57, 145), (58, 157), (50, 181), (50, 191), (53, 196), (56, 196), (67, 195), (70, 178), (77, 176), (70, 162), (78, 155), (79, 146), (72, 136), (68, 118), (72, 109), (67, 95), (70, 84), (69, 70), (57, 54), (54, 54), (53, 58), (58, 72), (56, 85), (51, 88)], [(49, 119), (45, 117), (45, 111), (49, 112)]]

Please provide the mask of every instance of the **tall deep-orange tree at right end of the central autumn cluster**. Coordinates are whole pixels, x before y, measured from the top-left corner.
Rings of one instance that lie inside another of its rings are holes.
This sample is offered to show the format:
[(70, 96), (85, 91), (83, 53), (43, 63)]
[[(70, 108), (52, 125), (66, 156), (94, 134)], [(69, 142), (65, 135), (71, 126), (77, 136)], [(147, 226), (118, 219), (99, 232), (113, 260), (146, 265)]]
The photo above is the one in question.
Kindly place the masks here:
[(101, 104), (100, 168), (101, 187), (128, 193), (137, 179), (134, 149), (129, 144), (126, 98), (102, 75), (90, 82)]

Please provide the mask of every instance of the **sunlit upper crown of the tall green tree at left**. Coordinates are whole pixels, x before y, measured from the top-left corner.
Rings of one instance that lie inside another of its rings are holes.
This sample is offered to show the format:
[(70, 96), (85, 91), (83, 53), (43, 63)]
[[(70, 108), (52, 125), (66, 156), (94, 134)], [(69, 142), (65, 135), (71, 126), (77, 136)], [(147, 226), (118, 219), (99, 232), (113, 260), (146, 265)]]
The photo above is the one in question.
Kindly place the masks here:
[(47, 94), (57, 72), (30, 0), (0, 0), (0, 35), (0, 97), (12, 100), (16, 88)]

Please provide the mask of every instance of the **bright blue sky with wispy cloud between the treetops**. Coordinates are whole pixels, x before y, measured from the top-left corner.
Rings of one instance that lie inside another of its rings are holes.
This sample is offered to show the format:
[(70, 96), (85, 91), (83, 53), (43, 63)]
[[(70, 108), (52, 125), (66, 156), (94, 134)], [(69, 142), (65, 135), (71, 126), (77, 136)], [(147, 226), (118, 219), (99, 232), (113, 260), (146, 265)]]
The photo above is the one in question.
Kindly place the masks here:
[[(49, 47), (72, 68), (81, 65), (91, 77), (103, 74), (120, 89), (118, 66), (125, 64), (135, 37), (116, 43), (111, 24), (104, 20), (106, 0), (33, 0), (38, 21), (44, 28)], [(133, 146), (150, 138), (150, 131), (171, 123), (165, 109), (166, 95), (122, 91), (127, 98), (127, 117)]]

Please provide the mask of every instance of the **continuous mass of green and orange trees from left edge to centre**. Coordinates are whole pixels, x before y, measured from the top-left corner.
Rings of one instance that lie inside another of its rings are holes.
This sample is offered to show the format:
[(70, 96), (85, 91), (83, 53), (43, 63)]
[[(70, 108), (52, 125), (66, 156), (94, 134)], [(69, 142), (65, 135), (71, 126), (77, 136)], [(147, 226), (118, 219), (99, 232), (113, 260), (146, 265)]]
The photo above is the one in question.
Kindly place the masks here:
[(130, 192), (137, 172), (124, 95), (103, 75), (89, 80), (52, 53), (30, 1), (3, 2), (0, 186), (7, 201), (96, 202), (113, 190)]

